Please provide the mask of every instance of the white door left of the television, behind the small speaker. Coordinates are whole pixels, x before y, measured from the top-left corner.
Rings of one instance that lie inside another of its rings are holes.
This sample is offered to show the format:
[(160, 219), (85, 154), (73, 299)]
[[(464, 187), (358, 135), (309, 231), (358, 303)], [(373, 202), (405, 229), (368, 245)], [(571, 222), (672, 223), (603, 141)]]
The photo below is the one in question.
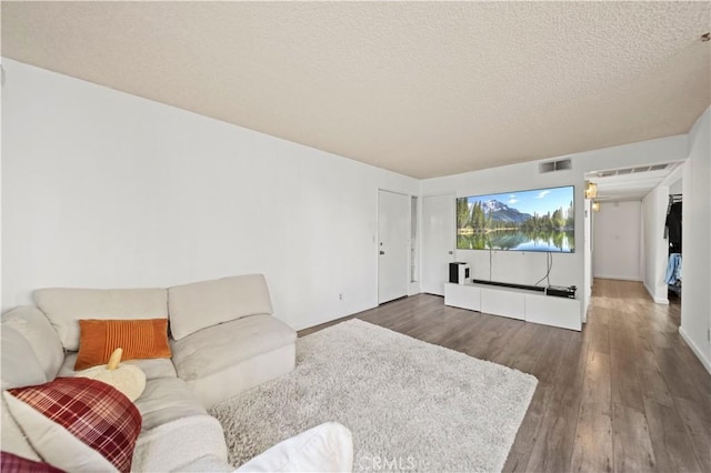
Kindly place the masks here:
[(422, 292), (444, 295), (454, 261), (454, 195), (422, 199)]

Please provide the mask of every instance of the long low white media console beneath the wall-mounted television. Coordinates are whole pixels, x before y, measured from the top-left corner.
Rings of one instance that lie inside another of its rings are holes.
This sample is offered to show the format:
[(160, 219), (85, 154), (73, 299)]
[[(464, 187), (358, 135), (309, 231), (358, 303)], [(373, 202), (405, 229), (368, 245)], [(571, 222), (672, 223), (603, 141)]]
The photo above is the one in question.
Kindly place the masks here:
[(580, 301), (489, 284), (444, 284), (444, 304), (580, 331)]

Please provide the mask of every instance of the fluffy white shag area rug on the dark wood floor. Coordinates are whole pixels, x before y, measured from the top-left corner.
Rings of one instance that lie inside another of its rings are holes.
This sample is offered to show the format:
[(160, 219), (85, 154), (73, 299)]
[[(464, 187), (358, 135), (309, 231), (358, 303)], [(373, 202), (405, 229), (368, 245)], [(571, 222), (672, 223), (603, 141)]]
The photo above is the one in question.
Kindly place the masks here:
[(498, 472), (538, 380), (353, 319), (297, 341), (297, 368), (211, 409), (239, 466), (328, 421), (353, 471)]

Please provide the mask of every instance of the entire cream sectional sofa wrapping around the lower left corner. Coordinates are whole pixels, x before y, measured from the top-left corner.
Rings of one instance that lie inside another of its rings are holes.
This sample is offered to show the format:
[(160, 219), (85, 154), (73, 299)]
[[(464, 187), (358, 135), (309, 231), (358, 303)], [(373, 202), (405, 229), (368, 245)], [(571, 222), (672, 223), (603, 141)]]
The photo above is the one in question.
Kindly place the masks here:
[[(141, 368), (147, 380), (136, 400), (142, 426), (132, 471), (231, 471), (222, 427), (207, 410), (294, 366), (297, 334), (272, 315), (267, 283), (259, 274), (170, 289), (43, 289), (34, 299), (37, 308), (2, 315), (3, 391), (73, 376), (79, 320), (169, 319), (172, 359), (124, 362)], [(48, 461), (26, 431), (3, 399), (2, 451)], [(352, 443), (346, 427), (324, 424), (302, 435), (242, 467), (350, 469)], [(300, 460), (304, 439), (320, 446)], [(301, 445), (297, 451), (294, 442)]]

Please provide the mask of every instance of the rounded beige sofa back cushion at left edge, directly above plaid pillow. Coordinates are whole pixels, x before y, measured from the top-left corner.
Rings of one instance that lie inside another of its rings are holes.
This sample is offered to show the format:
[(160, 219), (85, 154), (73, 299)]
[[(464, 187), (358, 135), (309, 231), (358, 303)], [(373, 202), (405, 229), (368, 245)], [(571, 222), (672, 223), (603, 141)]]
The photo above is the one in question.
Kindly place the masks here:
[(42, 384), (47, 375), (34, 351), (20, 332), (2, 325), (2, 390)]

